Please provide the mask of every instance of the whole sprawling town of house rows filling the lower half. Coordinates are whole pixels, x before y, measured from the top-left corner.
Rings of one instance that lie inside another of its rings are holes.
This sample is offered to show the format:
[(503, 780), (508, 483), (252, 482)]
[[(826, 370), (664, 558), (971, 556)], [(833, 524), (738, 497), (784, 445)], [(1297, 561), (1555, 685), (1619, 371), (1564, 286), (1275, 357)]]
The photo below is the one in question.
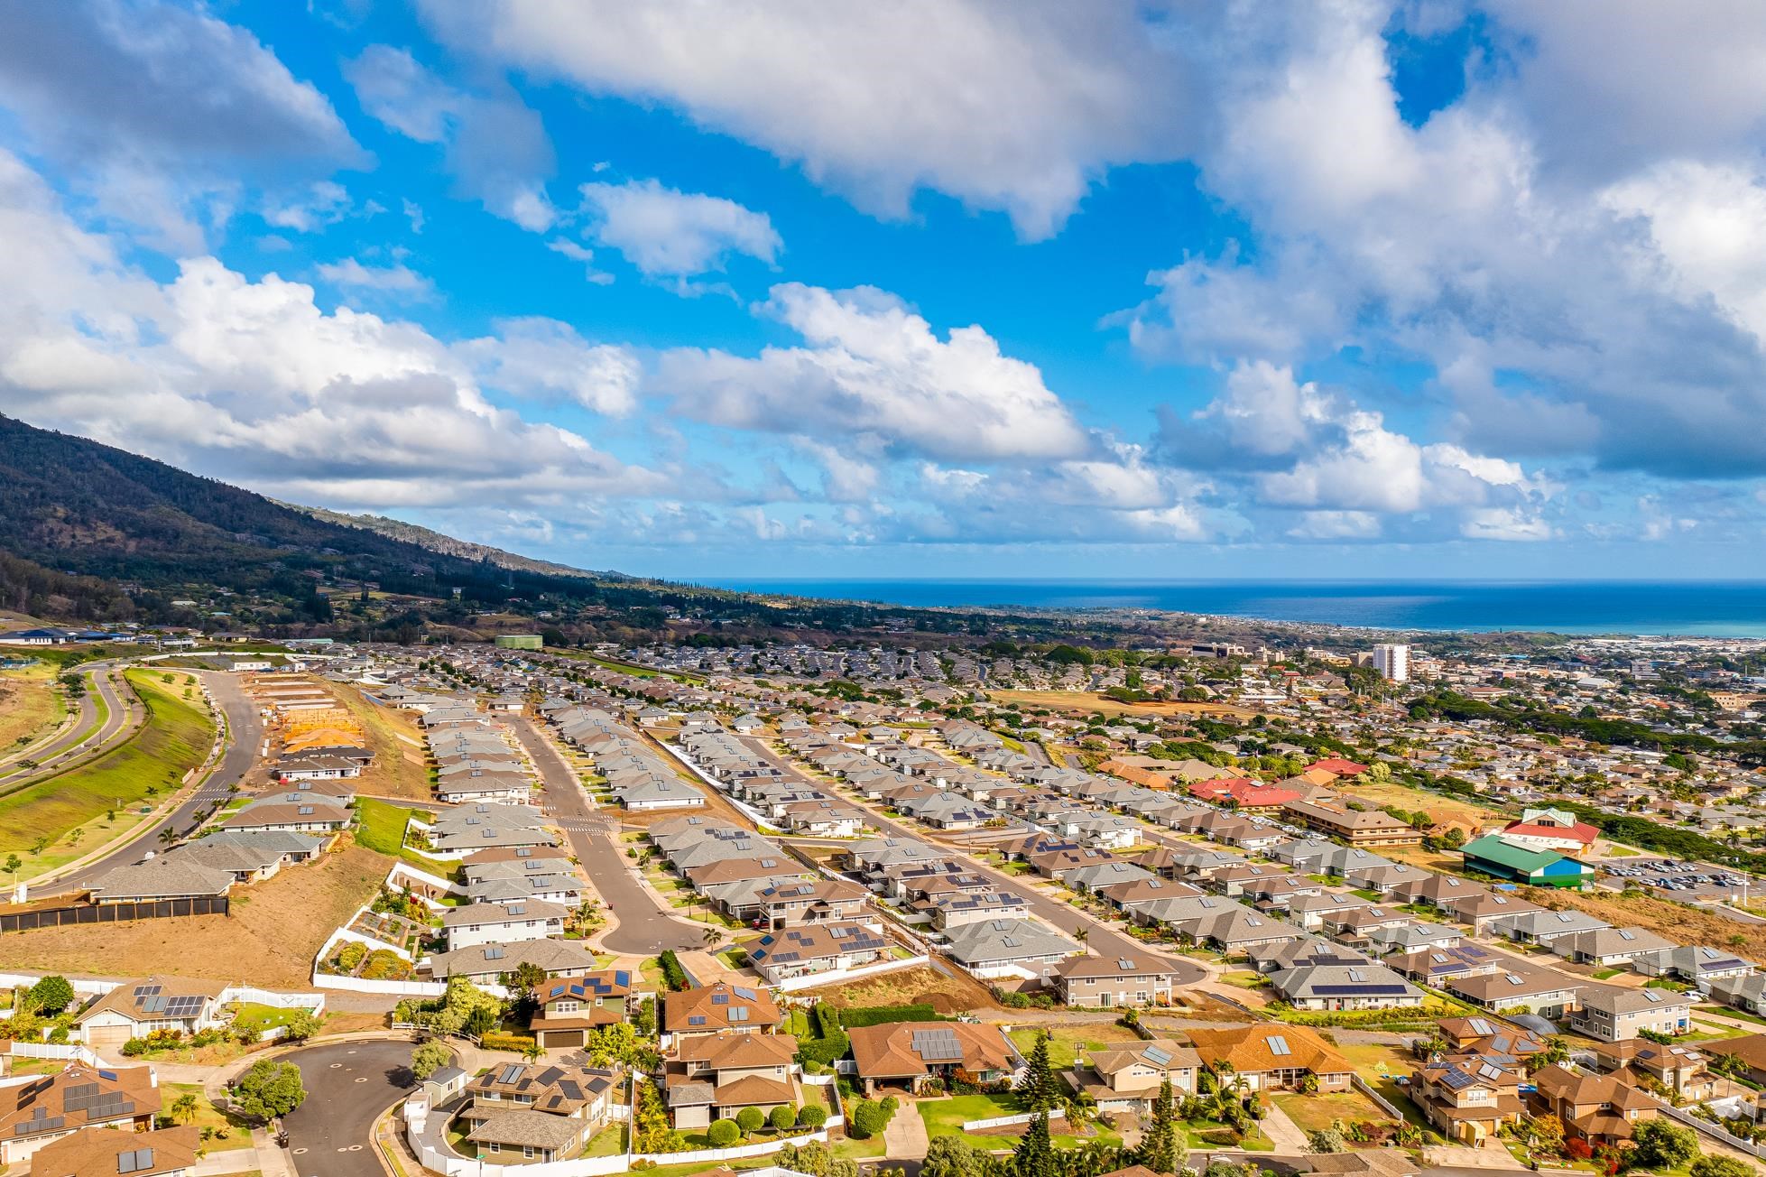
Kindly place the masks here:
[(1759, 1158), (1766, 650), (1314, 636), (7, 631), (0, 1161)]

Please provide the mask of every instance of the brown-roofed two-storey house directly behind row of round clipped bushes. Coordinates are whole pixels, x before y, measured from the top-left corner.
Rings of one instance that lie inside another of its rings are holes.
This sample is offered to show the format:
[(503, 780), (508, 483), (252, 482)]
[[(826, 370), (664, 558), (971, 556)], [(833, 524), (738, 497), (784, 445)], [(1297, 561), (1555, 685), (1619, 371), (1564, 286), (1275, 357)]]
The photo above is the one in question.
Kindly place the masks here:
[(675, 1128), (706, 1128), (742, 1108), (800, 1105), (795, 1055), (791, 1034), (721, 1030), (680, 1039), (664, 1071)]

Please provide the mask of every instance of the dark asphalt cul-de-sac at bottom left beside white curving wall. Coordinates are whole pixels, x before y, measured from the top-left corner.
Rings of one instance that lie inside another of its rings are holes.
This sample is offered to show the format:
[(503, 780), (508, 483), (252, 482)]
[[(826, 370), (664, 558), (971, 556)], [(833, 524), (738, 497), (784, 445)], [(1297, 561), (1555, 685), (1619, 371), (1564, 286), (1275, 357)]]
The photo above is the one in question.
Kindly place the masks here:
[(374, 1120), (417, 1085), (411, 1044), (336, 1043), (284, 1055), (300, 1067), (307, 1099), (288, 1119), (288, 1159), (298, 1177), (385, 1177)]

